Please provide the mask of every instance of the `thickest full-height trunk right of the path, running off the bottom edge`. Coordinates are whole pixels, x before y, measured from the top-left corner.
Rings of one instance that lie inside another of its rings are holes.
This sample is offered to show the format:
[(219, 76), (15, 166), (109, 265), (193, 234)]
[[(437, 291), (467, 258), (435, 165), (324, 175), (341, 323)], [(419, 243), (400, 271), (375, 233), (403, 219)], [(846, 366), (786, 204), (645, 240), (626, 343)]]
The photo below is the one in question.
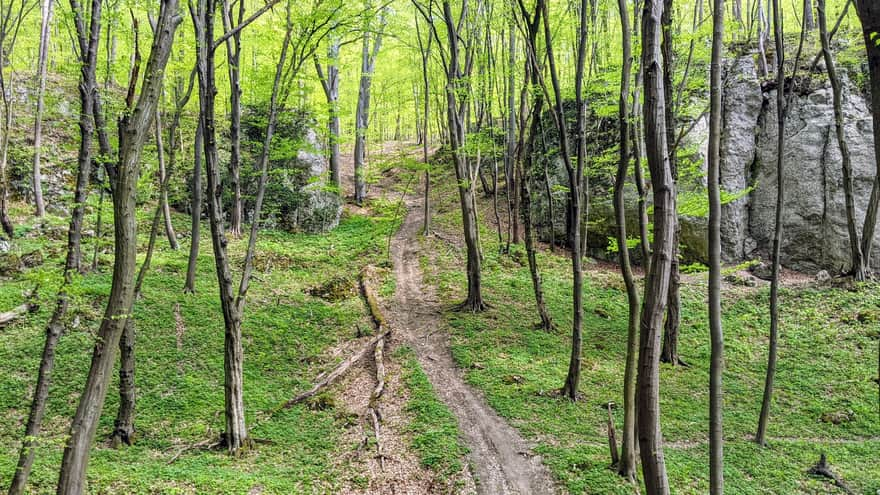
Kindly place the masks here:
[(660, 48), (663, 0), (646, 0), (642, 15), (645, 71), (645, 147), (654, 190), (654, 253), (645, 282), (637, 378), (638, 432), (642, 474), (649, 495), (667, 495), (669, 480), (660, 431), (660, 338), (669, 295), (675, 242), (675, 185), (666, 142), (666, 102)]

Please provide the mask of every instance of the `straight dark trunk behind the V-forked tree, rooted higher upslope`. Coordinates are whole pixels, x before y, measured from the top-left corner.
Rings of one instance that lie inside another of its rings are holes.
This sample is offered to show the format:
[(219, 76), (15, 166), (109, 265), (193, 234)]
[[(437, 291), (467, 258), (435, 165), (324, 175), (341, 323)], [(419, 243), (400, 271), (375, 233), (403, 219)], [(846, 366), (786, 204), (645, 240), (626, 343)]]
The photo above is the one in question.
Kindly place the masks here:
[[(233, 5), (238, 4), (238, 19), (233, 24)], [(244, 20), (244, 0), (223, 1), (223, 29), (229, 32)], [(226, 57), (229, 70), (229, 186), (232, 189), (232, 208), (229, 211), (229, 233), (236, 239), (242, 233), (241, 203), (241, 31), (226, 39)]]

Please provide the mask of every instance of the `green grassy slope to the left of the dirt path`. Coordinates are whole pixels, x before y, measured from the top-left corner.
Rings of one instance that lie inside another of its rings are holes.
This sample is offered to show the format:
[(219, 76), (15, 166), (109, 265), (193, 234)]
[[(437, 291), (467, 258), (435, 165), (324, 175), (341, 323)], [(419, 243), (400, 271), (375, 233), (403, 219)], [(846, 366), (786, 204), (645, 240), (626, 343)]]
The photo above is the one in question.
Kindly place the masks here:
[[(340, 302), (328, 303), (306, 291), (337, 277), (353, 280), (365, 264), (387, 259), (387, 235), (396, 225), (394, 212), (388, 205), (375, 206), (373, 216), (346, 217), (327, 235), (261, 233), (257, 278), (244, 322), (245, 403), (252, 434), (271, 444), (260, 445), (239, 461), (223, 452), (191, 451), (167, 464), (183, 446), (214, 439), (223, 428), (223, 324), (207, 227), (194, 296), (180, 290), (188, 242), (174, 252), (159, 238), (144, 297), (135, 309), (139, 438), (134, 447), (120, 451), (99, 443), (89, 470), (93, 492), (246, 493), (259, 486), (265, 493), (332, 493), (343, 480), (356, 484), (360, 474), (339, 460), (344, 458), (340, 453), (353, 448), (338, 443), (347, 421), (341, 410), (313, 411), (296, 406), (271, 420), (266, 420), (266, 412), (308, 388), (319, 372), (333, 366), (339, 358), (328, 358), (326, 351), (351, 340), (356, 326), (370, 328), (355, 292)], [(144, 234), (149, 228), (148, 212), (142, 213)], [(188, 231), (185, 217), (175, 221), (178, 232)], [(62, 220), (53, 223), (63, 229)], [(0, 487), (7, 486), (17, 459), (43, 329), (52, 306), (55, 285), (51, 281), (57, 284), (63, 254), (61, 240), (29, 238), (28, 230), (20, 229), (19, 234), (25, 237), (16, 248), (22, 252), (41, 248), (50, 258), (42, 270), (0, 284), (0, 308), (20, 303), (21, 293), (34, 279), (49, 282), (42, 290), (46, 302), (39, 313), (0, 330)], [(145, 245), (144, 235), (141, 243)], [(240, 259), (244, 248), (245, 241), (231, 242), (233, 259)], [(91, 249), (87, 246), (85, 252), (91, 253)], [(109, 255), (102, 257), (101, 273), (88, 275), (76, 287), (79, 324), (63, 337), (58, 349), (46, 434), (31, 476), (35, 492), (54, 492), (66, 425), (77, 404), (97, 318), (110, 290), (110, 261)], [(386, 282), (382, 292), (388, 296), (393, 284)], [(185, 324), (180, 350), (173, 312), (176, 304)], [(408, 369), (420, 373), (414, 362)], [(114, 383), (98, 430), (101, 442), (112, 429), (118, 403), (115, 387)], [(443, 417), (442, 413), (433, 414)], [(432, 422), (431, 414), (423, 421)], [(427, 444), (432, 442), (444, 445), (449, 440), (428, 440)], [(441, 456), (441, 461), (447, 463), (442, 464), (447, 469), (457, 458)]]

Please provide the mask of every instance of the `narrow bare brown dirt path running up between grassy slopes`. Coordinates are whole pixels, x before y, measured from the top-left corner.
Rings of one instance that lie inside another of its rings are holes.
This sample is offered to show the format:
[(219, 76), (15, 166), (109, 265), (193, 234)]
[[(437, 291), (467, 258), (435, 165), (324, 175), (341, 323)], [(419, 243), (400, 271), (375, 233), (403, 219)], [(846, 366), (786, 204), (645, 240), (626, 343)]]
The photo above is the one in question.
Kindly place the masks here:
[(449, 336), (443, 330), (440, 303), (432, 287), (422, 284), (418, 235), (421, 215), (417, 201), (391, 244), (397, 290), (389, 319), (399, 338), (415, 350), (437, 395), (458, 419), (471, 453), (469, 461), (484, 494), (549, 494), (556, 489), (540, 456), (513, 427), (486, 404), (482, 394), (464, 381), (452, 360)]

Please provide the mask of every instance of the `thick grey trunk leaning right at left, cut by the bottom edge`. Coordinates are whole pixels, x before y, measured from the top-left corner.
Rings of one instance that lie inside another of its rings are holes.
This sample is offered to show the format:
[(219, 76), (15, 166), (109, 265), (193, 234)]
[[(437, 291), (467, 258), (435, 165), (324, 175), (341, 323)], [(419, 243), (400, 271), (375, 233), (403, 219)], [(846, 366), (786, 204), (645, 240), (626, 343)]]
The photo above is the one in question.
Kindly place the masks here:
[[(74, 0), (75, 2), (75, 0)], [(85, 389), (70, 426), (58, 479), (59, 495), (81, 494), (85, 489), (91, 444), (103, 409), (116, 358), (116, 346), (134, 301), (134, 269), (137, 256), (136, 198), (140, 155), (158, 104), (162, 74), (168, 63), (174, 32), (180, 23), (177, 0), (163, 0), (156, 21), (156, 35), (147, 61), (140, 96), (120, 121), (119, 161), (113, 194), (115, 259), (107, 309), (98, 329), (97, 342)], [(97, 8), (100, 14), (100, 7)], [(77, 9), (74, 9), (77, 10)], [(100, 15), (92, 22), (98, 23)], [(132, 81), (132, 87), (136, 81)], [(129, 100), (131, 102), (131, 100)]]

